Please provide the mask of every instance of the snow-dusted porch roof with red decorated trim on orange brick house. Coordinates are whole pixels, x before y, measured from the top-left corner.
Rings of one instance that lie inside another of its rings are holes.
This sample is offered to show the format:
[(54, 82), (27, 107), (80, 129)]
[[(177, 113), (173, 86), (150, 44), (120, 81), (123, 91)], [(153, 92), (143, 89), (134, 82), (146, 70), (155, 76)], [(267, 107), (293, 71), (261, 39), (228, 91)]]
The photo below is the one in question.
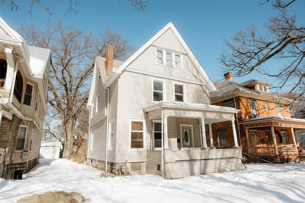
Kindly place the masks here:
[(305, 129), (304, 119), (278, 117), (278, 116), (266, 116), (266, 117), (243, 119), (239, 123), (242, 124), (244, 128), (279, 126), (279, 127), (287, 127), (287, 128), (298, 128), (300, 130)]

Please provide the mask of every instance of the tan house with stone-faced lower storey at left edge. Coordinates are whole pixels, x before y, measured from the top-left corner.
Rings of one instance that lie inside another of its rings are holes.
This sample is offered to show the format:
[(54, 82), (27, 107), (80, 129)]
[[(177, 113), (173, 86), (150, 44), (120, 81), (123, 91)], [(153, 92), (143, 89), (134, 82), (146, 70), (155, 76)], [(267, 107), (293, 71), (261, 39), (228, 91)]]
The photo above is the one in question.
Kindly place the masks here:
[(0, 42), (0, 177), (21, 178), (38, 163), (51, 50), (27, 46), (1, 18)]

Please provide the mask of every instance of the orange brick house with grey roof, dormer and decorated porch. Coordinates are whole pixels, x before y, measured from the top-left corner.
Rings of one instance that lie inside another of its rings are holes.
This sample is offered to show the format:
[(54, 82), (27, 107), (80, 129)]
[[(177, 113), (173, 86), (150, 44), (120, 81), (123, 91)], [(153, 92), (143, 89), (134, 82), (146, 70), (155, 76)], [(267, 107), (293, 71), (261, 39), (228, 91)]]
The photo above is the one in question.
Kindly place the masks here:
[[(218, 90), (210, 96), (211, 104), (241, 110), (235, 115), (235, 126), (243, 152), (254, 147), (253, 154), (267, 159), (283, 162), (296, 158), (299, 144), (295, 131), (305, 129), (305, 120), (291, 118), (289, 104), (293, 100), (270, 93), (269, 83), (255, 79), (239, 83), (232, 81), (231, 73), (224, 76), (225, 81), (216, 84)], [(232, 147), (229, 128), (229, 122), (212, 124), (214, 140), (223, 141), (214, 146)]]

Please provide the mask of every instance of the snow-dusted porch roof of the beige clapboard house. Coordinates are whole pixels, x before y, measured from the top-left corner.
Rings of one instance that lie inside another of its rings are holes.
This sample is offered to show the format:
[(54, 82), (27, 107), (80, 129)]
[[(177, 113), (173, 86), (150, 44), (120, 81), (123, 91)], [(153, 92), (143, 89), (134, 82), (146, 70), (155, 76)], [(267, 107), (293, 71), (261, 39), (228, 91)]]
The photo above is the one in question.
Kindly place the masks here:
[(164, 116), (204, 118), (205, 123), (235, 120), (234, 114), (240, 111), (231, 107), (170, 101), (161, 101), (143, 110), (148, 114), (148, 119), (160, 118), (164, 110)]

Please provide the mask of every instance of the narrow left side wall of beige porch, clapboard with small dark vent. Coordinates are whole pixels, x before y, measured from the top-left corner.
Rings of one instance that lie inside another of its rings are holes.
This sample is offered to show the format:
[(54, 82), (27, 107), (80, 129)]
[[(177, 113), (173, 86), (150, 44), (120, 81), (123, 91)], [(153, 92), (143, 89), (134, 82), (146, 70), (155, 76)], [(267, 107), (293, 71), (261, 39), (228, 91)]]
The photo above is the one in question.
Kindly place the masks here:
[(157, 168), (158, 164), (160, 165), (161, 169), (161, 151), (147, 150), (146, 173), (162, 176), (161, 170), (158, 170)]

